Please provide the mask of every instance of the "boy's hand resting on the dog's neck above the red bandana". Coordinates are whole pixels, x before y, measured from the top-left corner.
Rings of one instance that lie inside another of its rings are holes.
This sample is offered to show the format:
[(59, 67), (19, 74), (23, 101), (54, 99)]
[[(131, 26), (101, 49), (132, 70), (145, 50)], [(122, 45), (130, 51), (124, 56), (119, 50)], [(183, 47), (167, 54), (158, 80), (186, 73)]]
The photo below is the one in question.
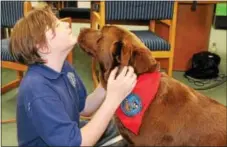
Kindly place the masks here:
[(137, 76), (132, 67), (124, 67), (115, 79), (117, 70), (118, 68), (115, 68), (110, 73), (107, 83), (106, 100), (118, 107), (135, 87)]

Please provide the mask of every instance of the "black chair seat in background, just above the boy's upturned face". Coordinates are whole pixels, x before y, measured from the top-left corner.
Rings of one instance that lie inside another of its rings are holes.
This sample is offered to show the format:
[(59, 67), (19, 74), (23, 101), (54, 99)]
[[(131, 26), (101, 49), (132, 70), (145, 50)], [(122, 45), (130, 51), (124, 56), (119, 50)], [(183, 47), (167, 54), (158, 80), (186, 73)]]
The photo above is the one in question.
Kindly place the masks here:
[(72, 19), (90, 19), (90, 9), (65, 7), (59, 11), (59, 17), (71, 17)]

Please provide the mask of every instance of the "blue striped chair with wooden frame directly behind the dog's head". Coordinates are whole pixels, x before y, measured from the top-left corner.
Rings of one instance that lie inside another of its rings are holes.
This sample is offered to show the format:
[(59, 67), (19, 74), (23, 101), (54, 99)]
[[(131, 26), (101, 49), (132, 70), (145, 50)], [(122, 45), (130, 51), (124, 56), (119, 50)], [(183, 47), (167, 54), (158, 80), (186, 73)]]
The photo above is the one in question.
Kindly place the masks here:
[[(153, 57), (169, 61), (168, 75), (172, 76), (178, 2), (174, 1), (96, 1), (91, 5), (91, 27), (100, 29), (106, 24), (141, 25), (149, 30), (131, 30), (150, 49)], [(169, 39), (155, 33), (156, 23), (169, 28)], [(92, 60), (94, 85), (98, 84), (96, 62)]]

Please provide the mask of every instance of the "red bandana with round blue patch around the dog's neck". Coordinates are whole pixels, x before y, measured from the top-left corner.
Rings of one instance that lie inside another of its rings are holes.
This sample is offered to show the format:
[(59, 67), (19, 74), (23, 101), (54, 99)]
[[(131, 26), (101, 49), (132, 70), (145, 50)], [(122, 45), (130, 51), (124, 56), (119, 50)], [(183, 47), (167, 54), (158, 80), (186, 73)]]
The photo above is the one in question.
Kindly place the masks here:
[(139, 133), (144, 113), (157, 93), (160, 78), (159, 72), (140, 75), (134, 90), (116, 111), (124, 127), (136, 135)]

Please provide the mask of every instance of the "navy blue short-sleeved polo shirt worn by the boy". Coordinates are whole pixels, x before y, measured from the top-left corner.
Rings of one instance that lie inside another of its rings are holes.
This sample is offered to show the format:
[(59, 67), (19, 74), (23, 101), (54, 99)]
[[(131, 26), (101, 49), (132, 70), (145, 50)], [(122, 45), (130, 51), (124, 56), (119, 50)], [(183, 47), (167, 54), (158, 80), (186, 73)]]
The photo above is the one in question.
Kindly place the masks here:
[(19, 146), (80, 146), (79, 113), (86, 89), (68, 62), (62, 71), (31, 65), (18, 93)]

